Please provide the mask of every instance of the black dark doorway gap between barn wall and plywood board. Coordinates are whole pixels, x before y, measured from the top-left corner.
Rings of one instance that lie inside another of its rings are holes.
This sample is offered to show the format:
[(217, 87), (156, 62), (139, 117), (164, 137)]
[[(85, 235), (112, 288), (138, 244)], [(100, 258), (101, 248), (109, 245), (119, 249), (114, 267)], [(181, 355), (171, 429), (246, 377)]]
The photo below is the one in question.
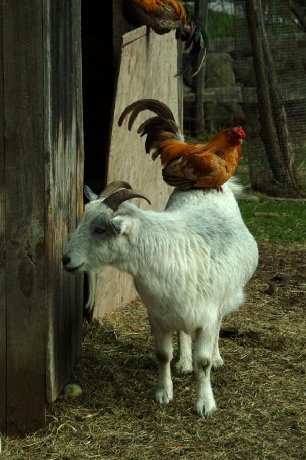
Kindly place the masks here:
[(82, 2), (84, 183), (99, 193), (105, 184), (114, 81), (112, 2)]

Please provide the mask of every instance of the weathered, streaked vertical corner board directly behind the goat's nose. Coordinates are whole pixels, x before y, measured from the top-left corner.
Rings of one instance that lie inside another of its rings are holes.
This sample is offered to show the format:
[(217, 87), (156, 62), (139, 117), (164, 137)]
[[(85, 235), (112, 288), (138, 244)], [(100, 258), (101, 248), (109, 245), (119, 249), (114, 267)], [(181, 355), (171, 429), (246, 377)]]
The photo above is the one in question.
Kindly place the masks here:
[(71, 378), (82, 340), (83, 277), (71, 278), (61, 263), (83, 208), (80, 17), (80, 0), (44, 0), (48, 402)]

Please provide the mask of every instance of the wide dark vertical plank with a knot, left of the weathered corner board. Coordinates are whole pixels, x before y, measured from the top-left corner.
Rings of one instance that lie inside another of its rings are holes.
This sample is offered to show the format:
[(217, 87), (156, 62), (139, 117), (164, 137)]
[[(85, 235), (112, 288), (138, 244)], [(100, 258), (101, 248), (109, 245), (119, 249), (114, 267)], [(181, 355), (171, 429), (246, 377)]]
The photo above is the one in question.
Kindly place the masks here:
[(7, 433), (45, 424), (41, 0), (3, 1)]

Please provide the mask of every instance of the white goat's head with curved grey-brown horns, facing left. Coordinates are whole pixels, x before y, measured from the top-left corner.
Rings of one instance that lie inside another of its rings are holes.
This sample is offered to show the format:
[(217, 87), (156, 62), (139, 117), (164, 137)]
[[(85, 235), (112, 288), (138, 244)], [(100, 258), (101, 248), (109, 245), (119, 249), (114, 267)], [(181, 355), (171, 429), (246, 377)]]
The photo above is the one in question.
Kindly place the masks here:
[(87, 186), (84, 193), (90, 202), (62, 257), (65, 270), (74, 274), (99, 271), (112, 264), (127, 244), (133, 219), (121, 207), (124, 201), (138, 197), (151, 204), (143, 193), (119, 180), (110, 183), (100, 195)]

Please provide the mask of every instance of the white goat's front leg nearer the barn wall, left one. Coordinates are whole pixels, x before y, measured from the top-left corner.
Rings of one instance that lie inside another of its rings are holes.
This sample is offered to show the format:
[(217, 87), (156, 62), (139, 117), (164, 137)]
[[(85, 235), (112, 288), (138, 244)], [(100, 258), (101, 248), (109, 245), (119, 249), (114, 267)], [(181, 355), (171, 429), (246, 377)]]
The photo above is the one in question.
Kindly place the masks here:
[(173, 399), (173, 384), (170, 370), (170, 362), (173, 358), (172, 334), (163, 331), (158, 325), (152, 323), (152, 321), (150, 323), (155, 341), (158, 364), (155, 401), (159, 404), (168, 404)]

